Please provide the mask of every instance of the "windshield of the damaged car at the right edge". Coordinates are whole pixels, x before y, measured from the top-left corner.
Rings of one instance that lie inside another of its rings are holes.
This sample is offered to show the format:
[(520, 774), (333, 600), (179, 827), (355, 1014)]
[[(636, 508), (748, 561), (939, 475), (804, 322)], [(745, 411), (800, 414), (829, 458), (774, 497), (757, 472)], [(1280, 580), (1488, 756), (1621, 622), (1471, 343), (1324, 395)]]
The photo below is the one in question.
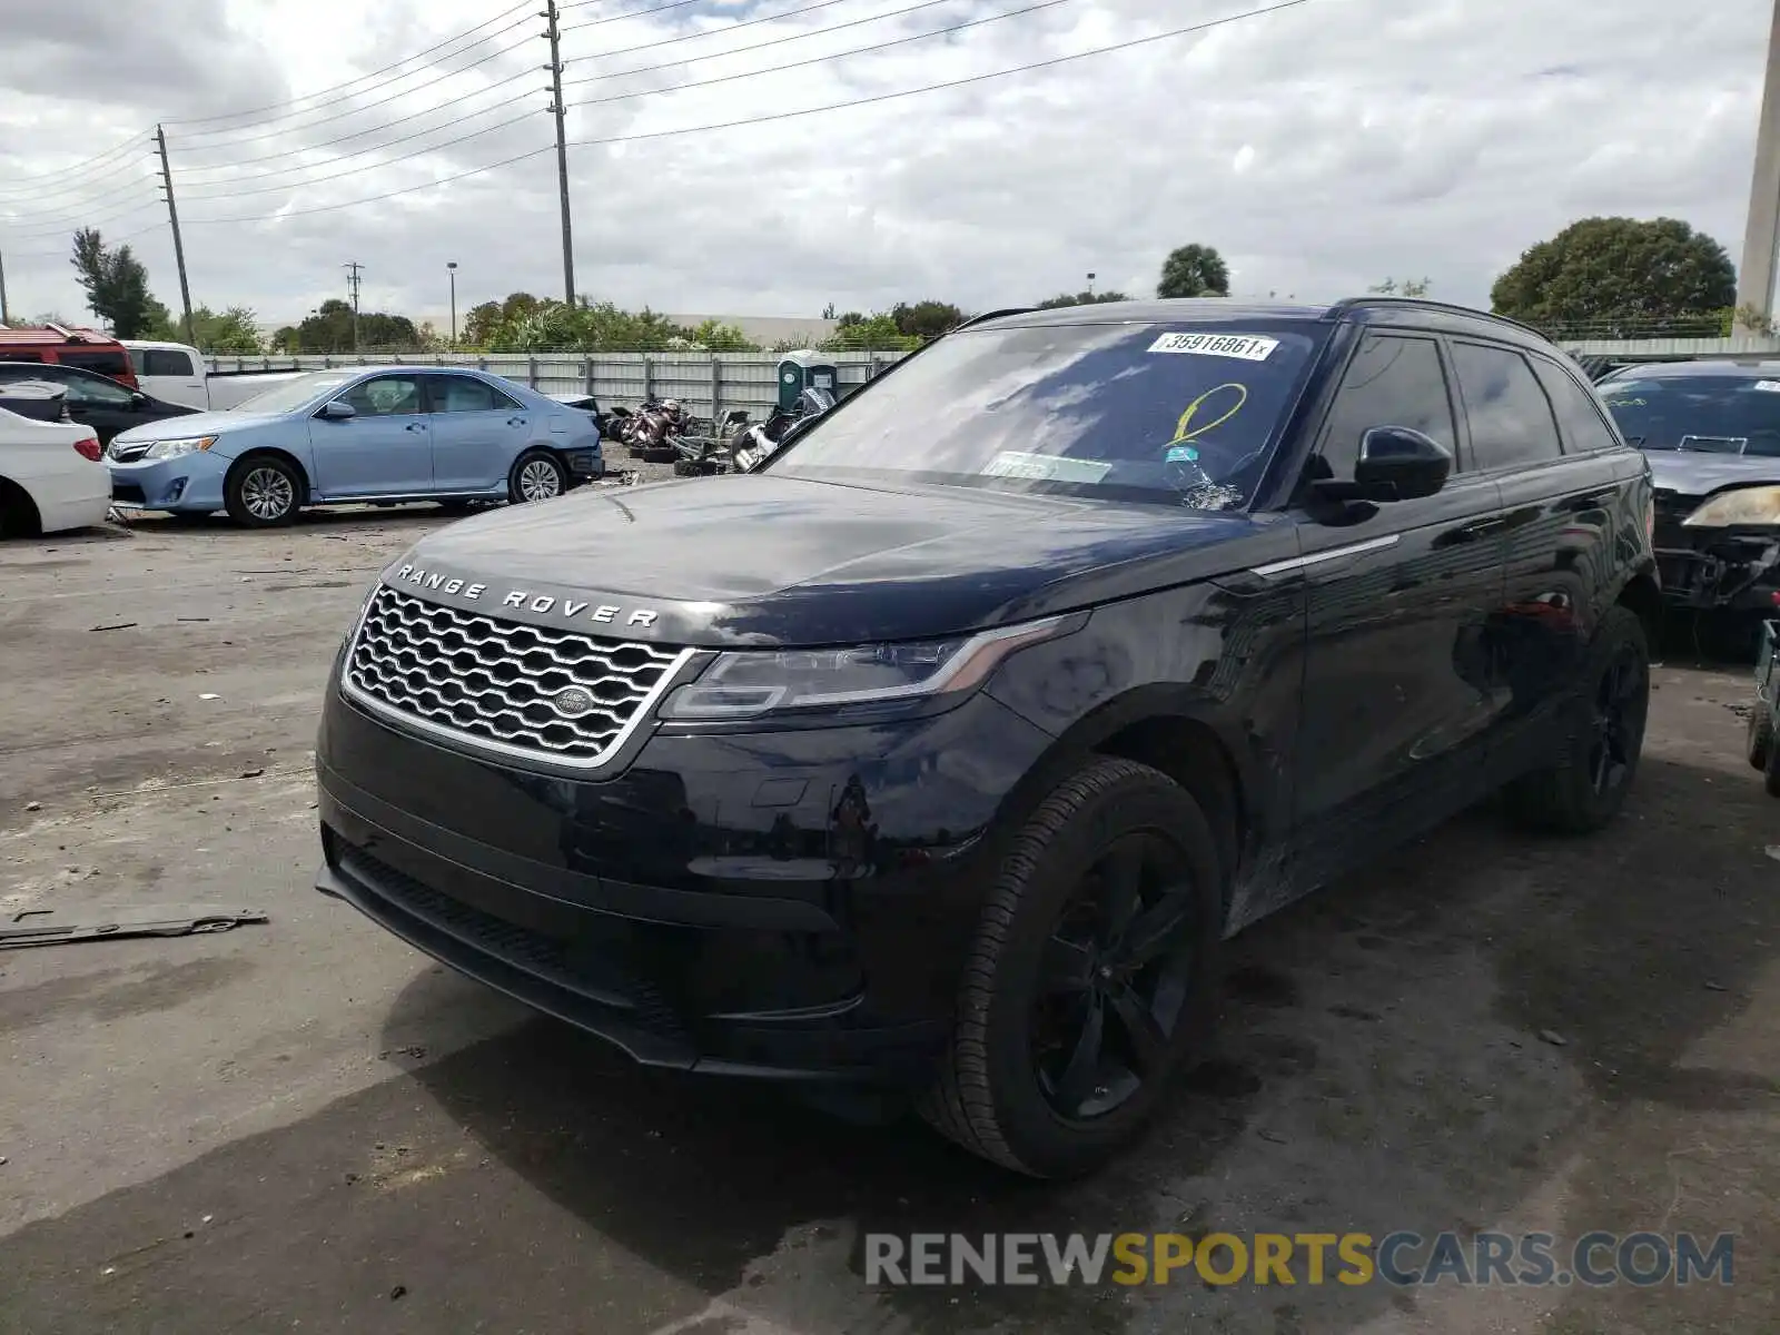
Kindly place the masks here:
[(1627, 377), (1600, 384), (1600, 397), (1620, 434), (1639, 449), (1780, 456), (1780, 381)]

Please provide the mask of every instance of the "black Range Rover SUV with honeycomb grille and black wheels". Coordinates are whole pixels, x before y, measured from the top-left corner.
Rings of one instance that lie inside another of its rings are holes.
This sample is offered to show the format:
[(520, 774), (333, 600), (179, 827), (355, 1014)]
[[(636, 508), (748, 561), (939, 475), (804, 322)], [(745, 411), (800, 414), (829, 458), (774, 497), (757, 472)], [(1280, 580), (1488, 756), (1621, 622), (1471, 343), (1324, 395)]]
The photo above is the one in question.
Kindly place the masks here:
[(1493, 790), (1613, 817), (1650, 495), (1476, 312), (983, 317), (760, 472), (392, 562), (328, 684), (319, 888), (637, 1061), (904, 1089), (1086, 1171), (1230, 934)]

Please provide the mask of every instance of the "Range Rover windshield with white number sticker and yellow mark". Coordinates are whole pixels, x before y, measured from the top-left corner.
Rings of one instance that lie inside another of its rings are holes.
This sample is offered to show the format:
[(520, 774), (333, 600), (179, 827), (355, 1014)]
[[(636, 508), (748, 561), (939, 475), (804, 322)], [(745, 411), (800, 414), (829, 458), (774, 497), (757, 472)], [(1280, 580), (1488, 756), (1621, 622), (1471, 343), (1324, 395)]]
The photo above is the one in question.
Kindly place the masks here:
[(1239, 507), (1324, 336), (1301, 320), (963, 331), (824, 413), (771, 468)]

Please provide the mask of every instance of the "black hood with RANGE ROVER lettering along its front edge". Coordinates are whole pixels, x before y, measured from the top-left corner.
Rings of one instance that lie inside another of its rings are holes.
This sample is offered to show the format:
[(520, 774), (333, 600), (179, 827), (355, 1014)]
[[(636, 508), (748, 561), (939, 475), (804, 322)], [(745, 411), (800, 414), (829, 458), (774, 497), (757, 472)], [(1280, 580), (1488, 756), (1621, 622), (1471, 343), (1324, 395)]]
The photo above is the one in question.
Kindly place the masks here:
[(1171, 506), (724, 473), (491, 511), (422, 538), (384, 578), (675, 644), (858, 644), (1209, 578), (1235, 561), (1219, 548), (1257, 527)]

